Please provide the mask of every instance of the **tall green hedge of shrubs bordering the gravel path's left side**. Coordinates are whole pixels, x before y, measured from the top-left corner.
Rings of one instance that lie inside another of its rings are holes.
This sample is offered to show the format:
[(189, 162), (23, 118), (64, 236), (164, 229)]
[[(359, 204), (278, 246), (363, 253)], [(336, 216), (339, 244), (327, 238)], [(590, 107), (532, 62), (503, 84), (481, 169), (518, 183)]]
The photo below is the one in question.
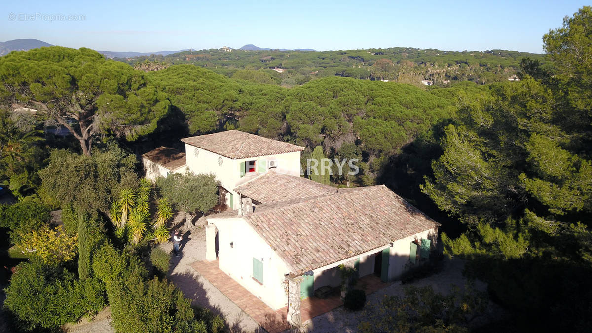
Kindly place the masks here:
[(106, 284), (118, 332), (218, 332), (225, 327), (208, 310), (194, 311), (174, 284), (156, 277), (146, 280), (146, 268), (138, 258), (111, 244), (96, 251), (92, 270)]

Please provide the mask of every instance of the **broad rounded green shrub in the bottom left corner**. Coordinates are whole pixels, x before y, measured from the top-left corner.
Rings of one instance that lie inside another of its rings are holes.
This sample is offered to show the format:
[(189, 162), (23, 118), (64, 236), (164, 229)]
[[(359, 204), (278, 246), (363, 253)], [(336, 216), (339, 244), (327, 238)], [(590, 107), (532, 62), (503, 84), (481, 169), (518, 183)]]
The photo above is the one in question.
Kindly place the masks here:
[(96, 281), (81, 282), (57, 266), (41, 261), (17, 266), (6, 289), (5, 307), (19, 330), (56, 329), (78, 321), (105, 305), (104, 289)]

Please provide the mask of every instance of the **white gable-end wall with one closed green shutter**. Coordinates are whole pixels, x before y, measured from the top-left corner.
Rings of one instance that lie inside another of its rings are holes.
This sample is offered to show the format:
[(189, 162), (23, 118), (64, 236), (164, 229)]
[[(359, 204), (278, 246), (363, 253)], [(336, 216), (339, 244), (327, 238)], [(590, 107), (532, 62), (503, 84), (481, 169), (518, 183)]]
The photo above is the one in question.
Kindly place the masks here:
[[(218, 229), (220, 270), (272, 309), (288, 304), (284, 291), (288, 268), (268, 244), (240, 217), (208, 219)], [(233, 247), (230, 247), (230, 242)], [(253, 280), (253, 257), (263, 262), (263, 283)]]

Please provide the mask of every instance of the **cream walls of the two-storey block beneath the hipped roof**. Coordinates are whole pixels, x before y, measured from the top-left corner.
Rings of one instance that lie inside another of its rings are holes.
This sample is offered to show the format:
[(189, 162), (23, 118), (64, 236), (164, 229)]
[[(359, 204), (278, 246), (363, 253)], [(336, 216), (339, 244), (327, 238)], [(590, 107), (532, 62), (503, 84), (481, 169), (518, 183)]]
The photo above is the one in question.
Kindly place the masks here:
[[(189, 171), (194, 172), (194, 174), (214, 174), (220, 181), (220, 185), (233, 195), (232, 209), (238, 209), (240, 206), (239, 196), (234, 192), (234, 188), (243, 184), (243, 182), (252, 180), (258, 175), (257, 172), (247, 172), (243, 177), (240, 177), (240, 164), (244, 161), (257, 161), (256, 163), (259, 163), (262, 160), (276, 160), (278, 161), (278, 168), (276, 168), (277, 172), (300, 176), (300, 152), (259, 156), (254, 158), (230, 159), (185, 143), (185, 156)], [(218, 162), (218, 158), (222, 159), (221, 165)], [(258, 166), (256, 165), (256, 169), (257, 168)], [(227, 202), (227, 204), (230, 203)]]

